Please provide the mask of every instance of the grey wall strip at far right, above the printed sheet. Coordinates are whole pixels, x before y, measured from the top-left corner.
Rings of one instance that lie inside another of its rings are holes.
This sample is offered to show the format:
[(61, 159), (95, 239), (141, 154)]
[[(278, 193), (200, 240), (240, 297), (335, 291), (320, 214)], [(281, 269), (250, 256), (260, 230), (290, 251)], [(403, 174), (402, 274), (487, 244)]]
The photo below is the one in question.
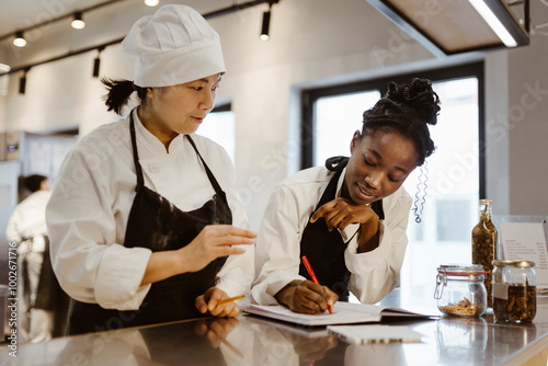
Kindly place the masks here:
[[(548, 2), (532, 1), (534, 24), (548, 22)], [(548, 215), (548, 33), (509, 53), (510, 209)]]

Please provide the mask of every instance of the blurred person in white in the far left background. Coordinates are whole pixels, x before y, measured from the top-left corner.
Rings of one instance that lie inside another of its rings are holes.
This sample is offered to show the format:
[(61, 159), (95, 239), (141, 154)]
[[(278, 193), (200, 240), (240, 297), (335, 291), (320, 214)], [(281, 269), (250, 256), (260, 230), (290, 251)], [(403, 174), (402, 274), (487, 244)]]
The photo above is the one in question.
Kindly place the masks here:
[(50, 196), (47, 176), (33, 174), (23, 178), (30, 195), (13, 210), (5, 237), (18, 243), (18, 332), (22, 343), (52, 339), (53, 314), (35, 307), (39, 297), (38, 282), (47, 243), (46, 204)]

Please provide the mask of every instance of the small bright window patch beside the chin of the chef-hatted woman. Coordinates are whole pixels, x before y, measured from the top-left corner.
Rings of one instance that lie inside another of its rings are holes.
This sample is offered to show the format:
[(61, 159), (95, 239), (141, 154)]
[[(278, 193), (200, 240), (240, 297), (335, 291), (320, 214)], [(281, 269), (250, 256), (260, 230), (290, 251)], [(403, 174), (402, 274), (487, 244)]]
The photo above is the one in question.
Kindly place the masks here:
[(233, 112), (209, 113), (196, 134), (222, 146), (235, 162), (236, 116)]

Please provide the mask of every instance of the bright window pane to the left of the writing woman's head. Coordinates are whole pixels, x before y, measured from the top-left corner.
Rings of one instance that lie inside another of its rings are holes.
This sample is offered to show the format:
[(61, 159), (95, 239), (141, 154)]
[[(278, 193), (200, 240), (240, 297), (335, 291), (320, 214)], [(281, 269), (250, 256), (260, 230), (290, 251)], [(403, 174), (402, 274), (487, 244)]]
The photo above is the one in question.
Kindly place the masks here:
[(377, 90), (320, 98), (313, 115), (313, 165), (323, 165), (326, 159), (350, 156), (354, 133), (362, 130), (362, 115), (380, 98)]

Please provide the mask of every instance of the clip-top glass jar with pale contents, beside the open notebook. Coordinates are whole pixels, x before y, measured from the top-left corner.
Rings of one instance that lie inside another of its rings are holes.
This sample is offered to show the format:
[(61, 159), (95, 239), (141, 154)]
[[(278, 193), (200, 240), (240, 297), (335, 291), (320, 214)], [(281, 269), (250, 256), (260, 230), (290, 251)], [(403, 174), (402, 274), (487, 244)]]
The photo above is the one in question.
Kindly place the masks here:
[(486, 272), (480, 264), (442, 264), (437, 268), (437, 308), (447, 316), (479, 317), (487, 309)]

